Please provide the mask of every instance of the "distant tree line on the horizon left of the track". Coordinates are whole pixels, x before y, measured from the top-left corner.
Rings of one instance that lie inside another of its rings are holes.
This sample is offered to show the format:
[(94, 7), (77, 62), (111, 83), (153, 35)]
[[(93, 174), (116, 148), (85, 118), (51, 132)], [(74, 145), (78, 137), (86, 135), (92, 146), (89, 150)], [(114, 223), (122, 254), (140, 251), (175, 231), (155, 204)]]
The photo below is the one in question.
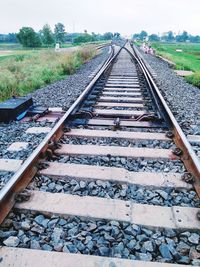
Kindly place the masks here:
[(0, 34), (0, 42), (19, 42), (24, 47), (49, 47), (55, 43), (86, 43), (101, 40), (119, 39), (120, 33), (106, 32), (104, 34), (89, 34), (87, 30), (83, 33), (66, 33), (65, 26), (62, 23), (57, 23), (54, 30), (48, 24), (36, 32), (31, 27), (22, 27), (18, 33)]

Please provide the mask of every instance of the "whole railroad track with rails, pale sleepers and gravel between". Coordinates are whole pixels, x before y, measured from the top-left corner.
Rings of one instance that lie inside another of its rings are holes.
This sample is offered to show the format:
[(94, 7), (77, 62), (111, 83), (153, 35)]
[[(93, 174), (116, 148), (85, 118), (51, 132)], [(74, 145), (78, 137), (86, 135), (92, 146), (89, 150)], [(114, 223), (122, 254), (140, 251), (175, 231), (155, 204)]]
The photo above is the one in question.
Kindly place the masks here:
[(0, 191), (0, 266), (198, 265), (199, 178), (127, 43)]

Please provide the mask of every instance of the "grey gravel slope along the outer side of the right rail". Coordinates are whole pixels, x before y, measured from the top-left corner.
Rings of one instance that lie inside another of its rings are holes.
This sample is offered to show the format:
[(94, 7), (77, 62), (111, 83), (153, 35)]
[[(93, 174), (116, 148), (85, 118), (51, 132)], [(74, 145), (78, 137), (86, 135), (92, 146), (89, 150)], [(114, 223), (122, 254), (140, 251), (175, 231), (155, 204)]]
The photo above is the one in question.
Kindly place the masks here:
[(140, 52), (156, 73), (159, 89), (183, 131), (200, 135), (200, 89), (177, 76), (168, 63)]

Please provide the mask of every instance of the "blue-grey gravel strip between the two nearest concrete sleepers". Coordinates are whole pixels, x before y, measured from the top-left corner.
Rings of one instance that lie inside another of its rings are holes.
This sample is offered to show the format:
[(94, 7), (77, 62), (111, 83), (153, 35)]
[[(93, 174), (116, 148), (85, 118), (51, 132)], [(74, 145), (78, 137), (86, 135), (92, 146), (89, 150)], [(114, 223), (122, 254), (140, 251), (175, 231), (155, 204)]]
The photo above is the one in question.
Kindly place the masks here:
[(199, 266), (199, 234), (77, 217), (11, 213), (0, 245)]

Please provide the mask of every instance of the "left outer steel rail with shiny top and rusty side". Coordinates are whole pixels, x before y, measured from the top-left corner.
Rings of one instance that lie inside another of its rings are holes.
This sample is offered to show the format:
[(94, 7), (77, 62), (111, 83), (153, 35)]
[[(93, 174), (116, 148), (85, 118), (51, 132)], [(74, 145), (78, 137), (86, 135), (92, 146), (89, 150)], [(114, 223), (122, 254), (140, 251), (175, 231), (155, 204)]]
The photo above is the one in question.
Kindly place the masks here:
[(16, 196), (22, 190), (26, 188), (29, 182), (32, 180), (34, 175), (38, 171), (37, 162), (41, 158), (42, 153), (48, 149), (49, 142), (57, 141), (64, 134), (63, 128), (69, 115), (74, 111), (74, 109), (80, 104), (81, 101), (85, 99), (87, 94), (90, 92), (94, 84), (98, 79), (104, 74), (104, 72), (111, 66), (115, 58), (120, 53), (122, 47), (114, 54), (114, 49), (112, 47), (111, 54), (106, 62), (103, 64), (102, 68), (95, 75), (92, 81), (87, 85), (85, 90), (76, 99), (72, 106), (67, 110), (63, 117), (57, 122), (57, 124), (52, 128), (52, 130), (47, 134), (39, 146), (32, 152), (32, 154), (25, 160), (20, 169), (11, 177), (11, 179), (6, 183), (6, 185), (0, 191), (0, 223), (4, 220), (6, 215), (9, 213), (11, 208), (16, 202)]

